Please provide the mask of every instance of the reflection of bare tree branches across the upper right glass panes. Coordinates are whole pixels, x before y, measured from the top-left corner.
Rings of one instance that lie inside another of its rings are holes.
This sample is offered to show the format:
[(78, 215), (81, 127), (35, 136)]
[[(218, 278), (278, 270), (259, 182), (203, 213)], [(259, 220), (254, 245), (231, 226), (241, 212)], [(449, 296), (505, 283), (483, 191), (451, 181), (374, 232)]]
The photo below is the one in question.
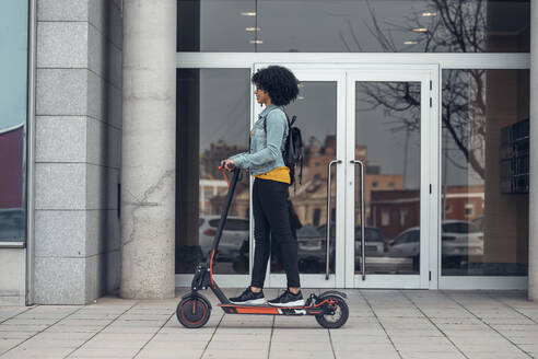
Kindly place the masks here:
[[(387, 53), (408, 51), (409, 46), (424, 53), (483, 53), (487, 46), (487, 3), (484, 0), (430, 0), (424, 9), (414, 11), (404, 25), (381, 23), (367, 2), (371, 23), (367, 27)], [(348, 26), (353, 34), (351, 22)], [(409, 34), (408, 47), (398, 46), (393, 34)], [(354, 45), (361, 49), (358, 37)], [(341, 36), (343, 40), (343, 36)], [(350, 49), (350, 44), (344, 44)], [(383, 108), (394, 120), (394, 130), (420, 129), (420, 90), (411, 83), (361, 83), (365, 107)], [(484, 178), (486, 71), (480, 69), (444, 71), (442, 120), (446, 129), (444, 147), (447, 160), (455, 166), (469, 166)], [(447, 143), (448, 142), (448, 143)]]

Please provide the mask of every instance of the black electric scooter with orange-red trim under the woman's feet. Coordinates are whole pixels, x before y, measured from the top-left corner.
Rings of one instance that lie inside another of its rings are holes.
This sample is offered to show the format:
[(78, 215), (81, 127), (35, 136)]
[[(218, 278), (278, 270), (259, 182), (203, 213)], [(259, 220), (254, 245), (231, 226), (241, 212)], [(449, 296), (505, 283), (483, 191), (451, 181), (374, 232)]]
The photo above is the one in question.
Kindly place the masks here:
[(329, 290), (319, 296), (311, 293), (303, 306), (271, 306), (271, 305), (247, 305), (232, 303), (217, 285), (213, 278), (213, 262), (218, 256), (219, 242), (226, 222), (230, 205), (234, 195), (235, 186), (239, 177), (239, 169), (233, 172), (232, 182), (229, 182), (223, 167), (219, 167), (224, 174), (229, 185), (224, 209), (221, 221), (213, 239), (211, 255), (204, 265), (196, 267), (192, 278), (191, 291), (185, 294), (177, 304), (177, 320), (187, 328), (199, 328), (203, 326), (211, 315), (211, 303), (200, 294), (200, 290), (210, 288), (219, 299), (218, 304), (226, 314), (262, 314), (262, 315), (314, 315), (316, 321), (325, 328), (339, 328), (349, 317), (349, 308), (346, 303), (346, 293)]

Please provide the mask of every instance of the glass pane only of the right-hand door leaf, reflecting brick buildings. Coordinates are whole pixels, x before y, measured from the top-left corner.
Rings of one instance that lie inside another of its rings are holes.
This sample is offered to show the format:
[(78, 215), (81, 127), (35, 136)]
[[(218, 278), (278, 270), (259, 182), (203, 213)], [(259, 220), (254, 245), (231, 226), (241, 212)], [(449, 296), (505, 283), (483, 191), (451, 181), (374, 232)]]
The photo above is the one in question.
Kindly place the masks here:
[[(420, 271), (420, 85), (355, 83), (355, 159), (365, 165), (367, 274)], [(359, 169), (355, 178), (355, 273), (361, 273)]]

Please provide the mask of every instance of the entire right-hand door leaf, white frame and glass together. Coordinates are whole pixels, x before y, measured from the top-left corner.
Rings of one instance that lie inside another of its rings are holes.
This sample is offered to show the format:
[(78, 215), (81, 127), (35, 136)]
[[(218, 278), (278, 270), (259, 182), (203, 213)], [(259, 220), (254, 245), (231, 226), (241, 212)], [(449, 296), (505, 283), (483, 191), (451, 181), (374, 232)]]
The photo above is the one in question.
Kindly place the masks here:
[(435, 73), (348, 71), (346, 287), (430, 288), (436, 278)]

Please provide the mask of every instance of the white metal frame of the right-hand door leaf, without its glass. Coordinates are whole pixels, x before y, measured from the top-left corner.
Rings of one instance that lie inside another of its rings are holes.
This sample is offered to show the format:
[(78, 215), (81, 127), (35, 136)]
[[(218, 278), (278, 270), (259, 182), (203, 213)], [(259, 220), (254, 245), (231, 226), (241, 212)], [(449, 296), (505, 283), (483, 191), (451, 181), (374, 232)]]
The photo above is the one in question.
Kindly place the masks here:
[(438, 276), (438, 66), (367, 65), (348, 71), (346, 189), (354, 194), (355, 82), (421, 82), (420, 275), (366, 275), (354, 273), (354, 196), (346, 196), (346, 287), (436, 289)]

